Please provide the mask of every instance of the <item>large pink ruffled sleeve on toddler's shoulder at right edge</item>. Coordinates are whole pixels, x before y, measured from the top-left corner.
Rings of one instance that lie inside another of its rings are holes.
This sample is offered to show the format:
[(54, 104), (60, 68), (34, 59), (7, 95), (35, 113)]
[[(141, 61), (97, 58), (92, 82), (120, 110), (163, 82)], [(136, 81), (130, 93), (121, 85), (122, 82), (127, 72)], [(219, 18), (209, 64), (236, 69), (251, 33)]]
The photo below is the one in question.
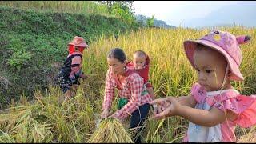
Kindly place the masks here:
[(234, 122), (239, 126), (250, 127), (256, 124), (256, 95), (222, 94), (218, 95), (216, 101), (214, 107), (219, 110), (231, 110), (238, 114)]

